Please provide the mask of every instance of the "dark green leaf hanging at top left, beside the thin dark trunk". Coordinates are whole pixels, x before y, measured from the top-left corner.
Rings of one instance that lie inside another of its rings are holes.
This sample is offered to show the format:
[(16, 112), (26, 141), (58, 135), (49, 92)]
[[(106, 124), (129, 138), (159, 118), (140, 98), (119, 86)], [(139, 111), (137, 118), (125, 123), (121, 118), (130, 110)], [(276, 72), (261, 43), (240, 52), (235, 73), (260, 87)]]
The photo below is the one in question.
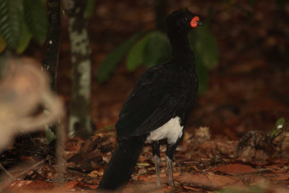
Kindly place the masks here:
[(40, 0), (23, 0), (25, 21), (32, 37), (42, 44), (47, 35), (47, 14)]

